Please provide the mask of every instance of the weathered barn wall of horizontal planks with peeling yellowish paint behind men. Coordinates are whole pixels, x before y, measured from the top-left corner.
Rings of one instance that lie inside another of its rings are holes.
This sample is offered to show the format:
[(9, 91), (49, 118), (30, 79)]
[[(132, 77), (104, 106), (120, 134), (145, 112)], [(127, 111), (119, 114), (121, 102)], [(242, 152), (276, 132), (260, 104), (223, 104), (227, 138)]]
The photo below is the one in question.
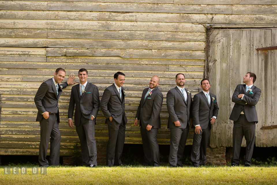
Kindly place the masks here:
[[(86, 68), (100, 98), (115, 72), (126, 74), (126, 143), (141, 143), (134, 116), (142, 90), (158, 75), (164, 94), (158, 142), (169, 144), (166, 93), (175, 87), (179, 72), (186, 75), (192, 95), (199, 92), (205, 24), (276, 27), (276, 12), (273, 0), (0, 1), (0, 154), (38, 154), (40, 126), (33, 98), (57, 67), (64, 68), (67, 77)], [(71, 155), (78, 142), (75, 129), (67, 124), (70, 89), (64, 89), (59, 100), (61, 155)], [(108, 139), (101, 111), (96, 139)], [(192, 132), (187, 144), (192, 144)]]

